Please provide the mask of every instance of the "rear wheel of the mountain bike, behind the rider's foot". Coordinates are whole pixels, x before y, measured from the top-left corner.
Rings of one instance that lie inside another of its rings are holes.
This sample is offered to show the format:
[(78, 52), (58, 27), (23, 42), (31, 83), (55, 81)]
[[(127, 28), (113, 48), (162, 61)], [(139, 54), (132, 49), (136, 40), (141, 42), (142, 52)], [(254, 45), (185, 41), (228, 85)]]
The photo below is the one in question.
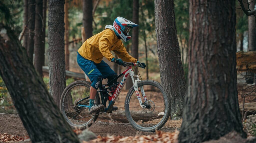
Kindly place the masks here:
[[(91, 83), (87, 81), (75, 81), (69, 84), (63, 91), (60, 98), (60, 111), (73, 128), (90, 127), (97, 120), (99, 113), (88, 113), (87, 107), (78, 107), (77, 102), (90, 96)], [(95, 96), (94, 103), (100, 104), (99, 94)], [(89, 98), (79, 102), (79, 104), (89, 106)]]

